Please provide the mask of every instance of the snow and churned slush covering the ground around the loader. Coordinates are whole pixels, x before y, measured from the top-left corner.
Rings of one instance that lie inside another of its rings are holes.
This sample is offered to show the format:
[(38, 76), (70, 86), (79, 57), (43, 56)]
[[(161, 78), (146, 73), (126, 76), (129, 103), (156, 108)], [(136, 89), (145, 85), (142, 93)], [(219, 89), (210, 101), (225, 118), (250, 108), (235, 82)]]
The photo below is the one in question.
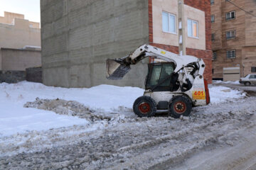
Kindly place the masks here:
[[(253, 163), (256, 152), (244, 157), (239, 146), (251, 136), (254, 146), (256, 97), (219, 85), (209, 90), (210, 105), (193, 108), (190, 117), (138, 118), (132, 104), (139, 88), (0, 84), (0, 169), (188, 169), (179, 161), (196, 153), (193, 169), (225, 169), (230, 164), (213, 164), (204, 152), (221, 158), (233, 146), (234, 160), (225, 162)], [(208, 161), (213, 165), (198, 166)]]

